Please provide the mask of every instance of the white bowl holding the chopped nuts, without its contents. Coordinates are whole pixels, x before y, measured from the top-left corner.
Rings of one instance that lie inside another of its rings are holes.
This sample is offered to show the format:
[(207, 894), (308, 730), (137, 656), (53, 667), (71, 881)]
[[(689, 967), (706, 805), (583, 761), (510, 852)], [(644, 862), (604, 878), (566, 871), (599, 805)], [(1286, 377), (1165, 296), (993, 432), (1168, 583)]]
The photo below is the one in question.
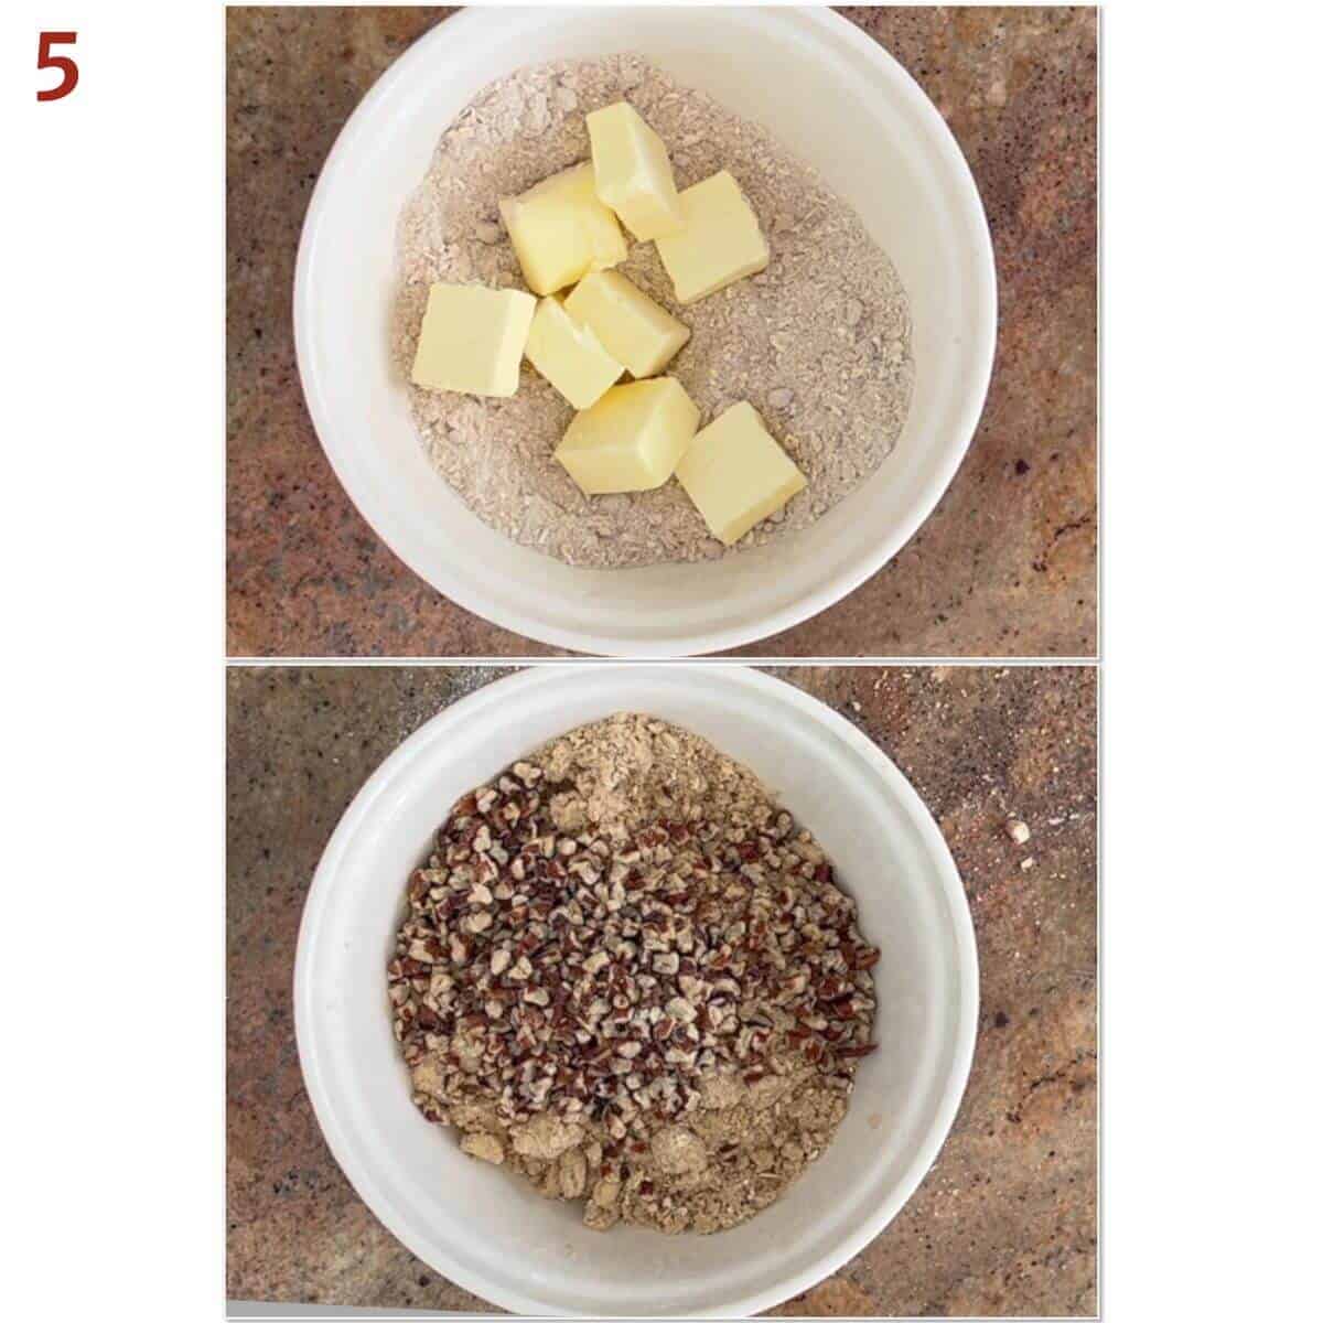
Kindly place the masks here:
[[(622, 709), (655, 713), (750, 766), (822, 841), (881, 949), (878, 1050), (835, 1142), (758, 1217), (717, 1236), (590, 1232), (579, 1213), (459, 1152), (422, 1119), (390, 1032), (385, 967), (409, 872), (466, 790), (552, 737)], [(294, 976), (308, 1097), (377, 1217), (438, 1273), (525, 1314), (744, 1315), (832, 1273), (937, 1156), (978, 1017), (974, 929), (942, 835), (849, 722), (742, 667), (553, 665), (434, 717), (349, 806), (318, 868)]]

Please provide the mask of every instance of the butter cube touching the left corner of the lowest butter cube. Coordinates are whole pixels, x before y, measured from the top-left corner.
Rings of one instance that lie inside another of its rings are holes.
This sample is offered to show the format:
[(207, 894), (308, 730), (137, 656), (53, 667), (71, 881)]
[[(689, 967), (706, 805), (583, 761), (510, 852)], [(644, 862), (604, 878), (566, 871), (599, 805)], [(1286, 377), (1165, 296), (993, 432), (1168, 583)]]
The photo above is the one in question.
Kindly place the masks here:
[(675, 377), (634, 381), (576, 414), (556, 458), (590, 496), (660, 487), (693, 441), (699, 406)]

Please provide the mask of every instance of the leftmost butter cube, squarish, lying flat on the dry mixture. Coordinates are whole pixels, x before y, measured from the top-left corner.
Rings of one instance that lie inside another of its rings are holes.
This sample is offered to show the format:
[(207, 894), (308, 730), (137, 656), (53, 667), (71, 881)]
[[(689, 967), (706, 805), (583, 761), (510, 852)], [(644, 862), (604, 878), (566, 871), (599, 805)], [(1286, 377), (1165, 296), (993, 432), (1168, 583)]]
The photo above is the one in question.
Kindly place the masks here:
[(418, 333), (413, 380), (427, 390), (512, 396), (537, 299), (523, 290), (434, 284)]

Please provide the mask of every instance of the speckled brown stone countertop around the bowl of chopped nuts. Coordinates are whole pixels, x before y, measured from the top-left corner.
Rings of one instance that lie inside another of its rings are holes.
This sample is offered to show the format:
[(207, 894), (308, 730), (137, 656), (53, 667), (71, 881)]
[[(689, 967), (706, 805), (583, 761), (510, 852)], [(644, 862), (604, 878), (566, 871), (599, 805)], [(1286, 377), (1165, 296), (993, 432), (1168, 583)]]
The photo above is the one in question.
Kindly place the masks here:
[[(295, 938), (336, 820), (434, 712), (501, 671), (229, 672), (230, 1298), (490, 1307), (405, 1250), (349, 1188), (303, 1091)], [(942, 827), (974, 913), (978, 1048), (926, 1180), (794, 1315), (1095, 1311), (1095, 673), (786, 668), (900, 765)], [(1007, 816), (1029, 824), (1015, 845)], [(1031, 868), (1023, 863), (1032, 859)]]

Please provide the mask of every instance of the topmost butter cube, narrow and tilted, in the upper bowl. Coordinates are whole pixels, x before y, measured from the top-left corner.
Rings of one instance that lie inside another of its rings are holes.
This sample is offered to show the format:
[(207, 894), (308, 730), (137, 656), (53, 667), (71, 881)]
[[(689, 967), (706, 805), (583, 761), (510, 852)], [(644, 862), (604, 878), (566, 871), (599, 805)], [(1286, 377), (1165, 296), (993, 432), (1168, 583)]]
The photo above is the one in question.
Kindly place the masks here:
[(665, 143), (627, 101), (591, 111), (587, 136), (593, 143), (597, 196), (636, 239), (684, 229)]

